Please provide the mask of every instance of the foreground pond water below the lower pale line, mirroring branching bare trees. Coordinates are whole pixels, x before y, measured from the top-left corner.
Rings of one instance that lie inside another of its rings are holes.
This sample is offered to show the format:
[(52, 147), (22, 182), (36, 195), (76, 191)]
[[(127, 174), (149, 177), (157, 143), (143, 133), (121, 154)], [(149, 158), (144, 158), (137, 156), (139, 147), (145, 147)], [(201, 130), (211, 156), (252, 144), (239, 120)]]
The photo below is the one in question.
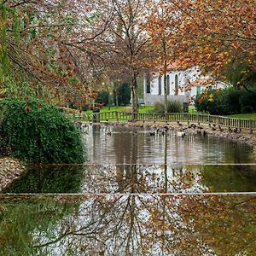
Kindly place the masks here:
[[(255, 196), (1, 196), (1, 255), (253, 255)], [(15, 254), (16, 253), (16, 254)]]

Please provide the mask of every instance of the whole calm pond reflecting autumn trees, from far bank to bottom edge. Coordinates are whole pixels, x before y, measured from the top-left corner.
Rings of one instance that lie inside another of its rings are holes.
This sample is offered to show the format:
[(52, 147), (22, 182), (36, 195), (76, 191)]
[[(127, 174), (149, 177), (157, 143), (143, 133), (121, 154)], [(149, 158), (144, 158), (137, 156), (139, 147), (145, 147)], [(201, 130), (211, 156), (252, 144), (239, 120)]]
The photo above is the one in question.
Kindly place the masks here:
[(83, 127), (84, 165), (27, 166), (0, 194), (0, 255), (254, 255), (253, 148)]

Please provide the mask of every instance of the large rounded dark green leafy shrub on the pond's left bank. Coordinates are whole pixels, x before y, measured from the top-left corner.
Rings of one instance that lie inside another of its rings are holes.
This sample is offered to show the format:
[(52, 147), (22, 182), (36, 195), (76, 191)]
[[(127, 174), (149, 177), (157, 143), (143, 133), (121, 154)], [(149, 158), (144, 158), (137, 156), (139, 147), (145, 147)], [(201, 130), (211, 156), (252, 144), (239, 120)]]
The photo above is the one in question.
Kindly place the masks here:
[(2, 137), (11, 155), (28, 163), (82, 163), (78, 128), (58, 108), (39, 101), (0, 101)]

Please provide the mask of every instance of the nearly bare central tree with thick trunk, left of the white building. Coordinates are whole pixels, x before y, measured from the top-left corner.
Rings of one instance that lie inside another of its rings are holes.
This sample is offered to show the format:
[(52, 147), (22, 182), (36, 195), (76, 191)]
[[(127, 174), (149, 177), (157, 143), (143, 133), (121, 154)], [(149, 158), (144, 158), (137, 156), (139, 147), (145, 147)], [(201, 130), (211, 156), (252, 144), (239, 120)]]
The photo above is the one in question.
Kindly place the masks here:
[[(98, 1), (97, 9), (106, 30), (93, 42), (80, 40), (73, 45), (88, 48), (115, 77), (131, 84), (133, 113), (137, 113), (137, 78), (151, 57), (149, 38), (141, 26), (147, 15), (148, 0)], [(109, 22), (107, 22), (109, 20)], [(93, 43), (93, 44), (91, 44)]]

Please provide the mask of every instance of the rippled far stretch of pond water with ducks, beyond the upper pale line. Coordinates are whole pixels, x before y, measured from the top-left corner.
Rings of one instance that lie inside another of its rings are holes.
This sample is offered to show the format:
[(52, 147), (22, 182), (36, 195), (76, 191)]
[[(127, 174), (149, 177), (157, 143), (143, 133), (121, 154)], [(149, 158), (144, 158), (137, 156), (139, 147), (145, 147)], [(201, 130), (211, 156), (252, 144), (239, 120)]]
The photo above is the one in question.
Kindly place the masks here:
[[(252, 147), (222, 137), (112, 125), (89, 125), (88, 160), (98, 164), (215, 164), (255, 162)], [(165, 161), (166, 160), (166, 161)]]

